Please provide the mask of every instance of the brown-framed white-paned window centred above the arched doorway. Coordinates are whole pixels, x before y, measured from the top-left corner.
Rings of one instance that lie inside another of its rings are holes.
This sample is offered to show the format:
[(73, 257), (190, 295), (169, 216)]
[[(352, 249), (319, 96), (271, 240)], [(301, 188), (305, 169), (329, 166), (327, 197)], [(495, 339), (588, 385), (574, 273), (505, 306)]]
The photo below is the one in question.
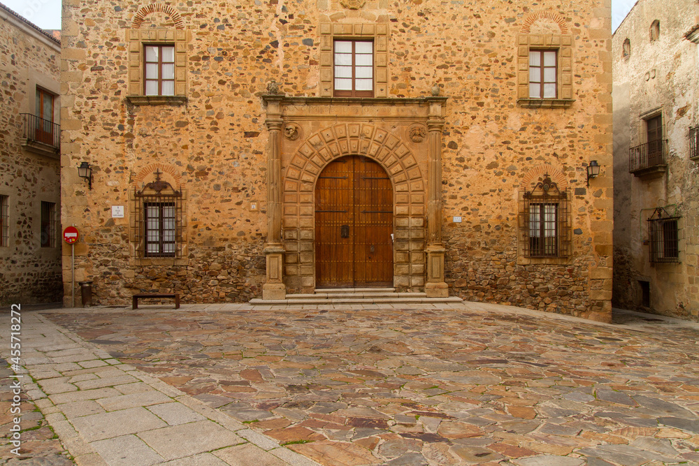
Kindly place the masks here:
[(374, 96), (373, 41), (334, 41), (336, 97)]

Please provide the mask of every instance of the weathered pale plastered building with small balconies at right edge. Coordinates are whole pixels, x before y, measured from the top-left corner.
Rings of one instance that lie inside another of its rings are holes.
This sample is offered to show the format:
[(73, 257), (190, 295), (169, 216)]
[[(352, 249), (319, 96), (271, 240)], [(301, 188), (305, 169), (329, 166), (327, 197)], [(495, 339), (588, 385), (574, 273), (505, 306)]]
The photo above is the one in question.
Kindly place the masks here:
[(614, 32), (614, 302), (699, 319), (699, 5), (640, 0)]

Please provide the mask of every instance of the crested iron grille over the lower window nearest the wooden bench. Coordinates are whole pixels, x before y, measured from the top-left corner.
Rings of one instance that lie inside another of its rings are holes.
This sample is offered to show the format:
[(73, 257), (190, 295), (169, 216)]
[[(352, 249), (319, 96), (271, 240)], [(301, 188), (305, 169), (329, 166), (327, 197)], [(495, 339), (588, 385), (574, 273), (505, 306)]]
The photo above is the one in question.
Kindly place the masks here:
[(136, 222), (134, 238), (140, 256), (181, 256), (182, 192), (160, 179), (136, 191)]

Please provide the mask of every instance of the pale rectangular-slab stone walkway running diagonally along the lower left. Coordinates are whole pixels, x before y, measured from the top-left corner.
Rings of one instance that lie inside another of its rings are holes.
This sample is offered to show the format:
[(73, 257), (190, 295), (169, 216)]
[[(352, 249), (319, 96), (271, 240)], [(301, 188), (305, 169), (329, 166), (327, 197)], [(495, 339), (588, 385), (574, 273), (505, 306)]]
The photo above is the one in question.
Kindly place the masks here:
[[(3, 453), (0, 465), (222, 466), (260, 458), (260, 464), (317, 466), (36, 312), (22, 314), (21, 338), (30, 355), (17, 372), (24, 377), (22, 456), (17, 463)], [(0, 334), (0, 356), (9, 356), (8, 340)], [(0, 362), (6, 388), (13, 372)], [(0, 416), (7, 426), (8, 419)], [(245, 448), (238, 456), (219, 453), (233, 446)]]

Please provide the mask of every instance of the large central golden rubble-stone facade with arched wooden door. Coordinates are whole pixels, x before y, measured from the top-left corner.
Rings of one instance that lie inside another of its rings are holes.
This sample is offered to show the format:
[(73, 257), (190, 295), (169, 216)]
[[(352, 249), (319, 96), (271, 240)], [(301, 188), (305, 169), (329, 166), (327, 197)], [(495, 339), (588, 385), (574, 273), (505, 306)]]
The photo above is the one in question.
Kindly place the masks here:
[(610, 319), (608, 0), (66, 0), (63, 24), (63, 221), (100, 303), (381, 284)]

